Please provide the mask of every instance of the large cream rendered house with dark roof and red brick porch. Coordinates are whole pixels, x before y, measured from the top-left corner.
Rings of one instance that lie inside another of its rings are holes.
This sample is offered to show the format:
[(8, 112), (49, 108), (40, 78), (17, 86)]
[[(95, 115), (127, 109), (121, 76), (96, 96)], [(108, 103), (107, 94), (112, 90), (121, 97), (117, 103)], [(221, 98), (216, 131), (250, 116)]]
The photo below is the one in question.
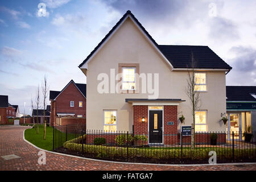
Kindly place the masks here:
[(149, 143), (177, 142), (181, 127), (178, 118), (184, 115), (182, 125), (193, 123), (185, 88), (188, 71), (195, 68), (201, 98), (201, 107), (195, 112), (195, 131), (226, 132), (221, 114), (226, 113), (225, 76), (232, 67), (208, 46), (157, 44), (131, 11), (79, 68), (86, 76), (88, 130), (154, 133), (148, 135)]

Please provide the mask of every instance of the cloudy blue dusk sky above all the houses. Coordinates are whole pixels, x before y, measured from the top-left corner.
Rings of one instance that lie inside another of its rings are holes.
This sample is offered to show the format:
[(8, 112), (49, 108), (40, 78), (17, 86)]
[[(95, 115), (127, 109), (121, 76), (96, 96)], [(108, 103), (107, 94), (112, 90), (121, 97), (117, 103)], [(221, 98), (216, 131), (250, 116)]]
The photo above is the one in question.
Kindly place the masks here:
[(255, 9), (253, 0), (1, 0), (0, 95), (31, 114), (44, 75), (50, 90), (86, 83), (78, 65), (127, 10), (158, 44), (209, 46), (233, 67), (227, 85), (256, 86)]

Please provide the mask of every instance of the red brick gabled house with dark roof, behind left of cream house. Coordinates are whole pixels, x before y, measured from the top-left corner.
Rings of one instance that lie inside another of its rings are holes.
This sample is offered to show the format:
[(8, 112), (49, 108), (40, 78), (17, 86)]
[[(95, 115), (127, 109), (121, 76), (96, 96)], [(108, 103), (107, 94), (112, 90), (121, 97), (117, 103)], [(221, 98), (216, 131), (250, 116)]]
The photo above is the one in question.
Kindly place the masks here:
[(86, 84), (77, 84), (71, 80), (61, 91), (50, 90), (49, 100), (51, 101), (51, 126), (55, 126), (56, 119), (59, 121), (60, 118), (65, 117), (70, 118), (66, 119), (70, 122), (62, 122), (62, 124), (58, 122), (59, 125), (64, 123), (68, 125), (77, 121), (85, 122)]

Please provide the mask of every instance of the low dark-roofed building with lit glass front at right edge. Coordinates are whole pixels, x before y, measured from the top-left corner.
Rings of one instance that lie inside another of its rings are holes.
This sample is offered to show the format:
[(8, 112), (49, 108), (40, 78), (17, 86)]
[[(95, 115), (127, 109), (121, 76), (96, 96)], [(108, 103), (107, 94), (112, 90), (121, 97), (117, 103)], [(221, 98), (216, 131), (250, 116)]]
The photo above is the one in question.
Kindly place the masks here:
[[(226, 130), (234, 139), (243, 140), (248, 126), (256, 132), (256, 86), (226, 86), (226, 112), (228, 124)], [(228, 136), (230, 137), (230, 136)]]

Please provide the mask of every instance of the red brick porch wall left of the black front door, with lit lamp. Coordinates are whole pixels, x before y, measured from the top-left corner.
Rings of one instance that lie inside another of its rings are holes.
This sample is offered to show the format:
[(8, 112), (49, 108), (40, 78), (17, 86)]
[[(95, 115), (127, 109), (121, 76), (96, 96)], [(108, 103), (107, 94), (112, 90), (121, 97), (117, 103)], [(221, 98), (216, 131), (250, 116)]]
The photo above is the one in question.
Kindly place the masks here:
[[(145, 122), (142, 122), (142, 117)], [(148, 131), (148, 106), (133, 106), (134, 134), (147, 134)]]

